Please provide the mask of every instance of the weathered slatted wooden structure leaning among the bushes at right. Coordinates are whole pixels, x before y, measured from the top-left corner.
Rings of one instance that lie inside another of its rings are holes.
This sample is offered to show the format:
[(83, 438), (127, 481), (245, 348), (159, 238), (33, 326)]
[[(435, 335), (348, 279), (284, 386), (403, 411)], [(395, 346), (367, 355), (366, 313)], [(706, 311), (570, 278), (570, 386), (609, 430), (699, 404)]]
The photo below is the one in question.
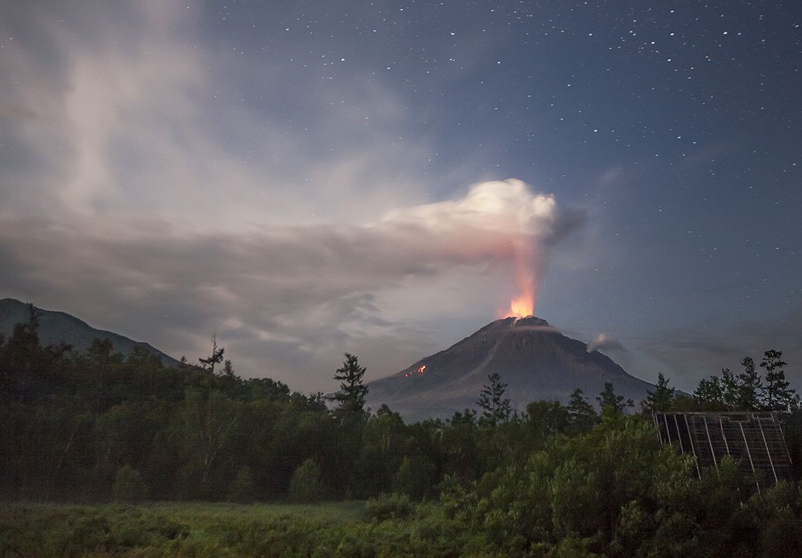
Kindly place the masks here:
[(758, 491), (791, 480), (792, 463), (780, 422), (771, 412), (655, 413), (660, 443), (696, 458), (701, 467), (719, 467), (731, 455), (755, 480)]

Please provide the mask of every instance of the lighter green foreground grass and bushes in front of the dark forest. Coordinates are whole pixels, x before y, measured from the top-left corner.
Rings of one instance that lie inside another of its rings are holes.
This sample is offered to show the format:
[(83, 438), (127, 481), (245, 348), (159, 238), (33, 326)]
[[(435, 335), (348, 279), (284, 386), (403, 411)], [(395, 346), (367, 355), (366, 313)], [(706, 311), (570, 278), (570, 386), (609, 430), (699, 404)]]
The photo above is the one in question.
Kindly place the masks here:
[(439, 502), (240, 507), (0, 505), (2, 556), (798, 556), (802, 498), (748, 495), (736, 463), (699, 480), (638, 417), (557, 435)]

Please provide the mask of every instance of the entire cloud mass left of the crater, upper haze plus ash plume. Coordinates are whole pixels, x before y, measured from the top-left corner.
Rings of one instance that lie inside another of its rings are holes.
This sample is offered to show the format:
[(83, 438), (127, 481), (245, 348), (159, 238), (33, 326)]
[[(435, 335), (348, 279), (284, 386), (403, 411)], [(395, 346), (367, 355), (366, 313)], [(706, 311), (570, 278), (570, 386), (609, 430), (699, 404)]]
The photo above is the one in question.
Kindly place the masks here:
[(0, 23), (3, 296), (176, 357), (217, 329), (242, 374), (330, 390), (344, 350), (389, 374), (439, 348), (421, 324), (484, 325), (514, 266), (536, 290), (581, 226), (520, 180), (455, 193), (475, 175), (433, 170), (419, 108), (381, 78), (243, 62), (191, 7), (19, 3)]

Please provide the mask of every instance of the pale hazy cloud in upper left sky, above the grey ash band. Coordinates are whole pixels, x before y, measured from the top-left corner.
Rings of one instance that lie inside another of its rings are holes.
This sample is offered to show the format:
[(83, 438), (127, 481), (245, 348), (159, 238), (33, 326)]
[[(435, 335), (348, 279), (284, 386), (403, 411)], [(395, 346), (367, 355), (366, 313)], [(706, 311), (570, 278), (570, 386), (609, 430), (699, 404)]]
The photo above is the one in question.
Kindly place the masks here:
[(411, 109), (387, 84), (348, 65), (322, 84), (245, 60), (213, 47), (202, 5), (176, 6), (13, 6), (0, 23), (15, 38), (0, 58), (0, 142), (14, 146), (0, 154), (13, 157), (0, 215), (241, 231), (362, 224), (427, 200), (435, 150), (406, 133)]

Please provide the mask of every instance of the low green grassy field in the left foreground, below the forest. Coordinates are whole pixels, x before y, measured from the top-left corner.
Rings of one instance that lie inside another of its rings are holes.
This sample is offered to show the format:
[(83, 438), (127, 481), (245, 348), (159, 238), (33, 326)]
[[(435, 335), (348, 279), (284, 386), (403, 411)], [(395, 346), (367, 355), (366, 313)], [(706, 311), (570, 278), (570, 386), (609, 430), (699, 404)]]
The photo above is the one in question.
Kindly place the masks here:
[(364, 502), (2, 503), (0, 556), (460, 556), (453, 526), (424, 516), (371, 520)]

